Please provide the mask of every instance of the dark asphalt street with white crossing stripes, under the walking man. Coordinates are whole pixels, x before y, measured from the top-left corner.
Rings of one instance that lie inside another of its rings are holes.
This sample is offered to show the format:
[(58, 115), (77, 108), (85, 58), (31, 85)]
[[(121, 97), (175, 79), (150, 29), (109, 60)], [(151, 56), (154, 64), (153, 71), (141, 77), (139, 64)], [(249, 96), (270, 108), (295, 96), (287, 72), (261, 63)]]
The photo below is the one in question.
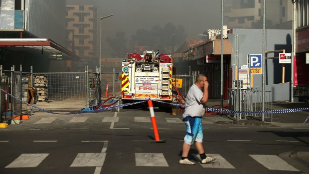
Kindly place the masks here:
[(179, 165), (185, 126), (181, 115), (155, 112), (160, 140), (150, 112), (122, 109), (81, 115), (36, 112), (29, 120), (0, 129), (0, 174), (304, 174), (285, 153), (309, 145), (306, 128), (215, 124), (203, 119), (210, 164)]

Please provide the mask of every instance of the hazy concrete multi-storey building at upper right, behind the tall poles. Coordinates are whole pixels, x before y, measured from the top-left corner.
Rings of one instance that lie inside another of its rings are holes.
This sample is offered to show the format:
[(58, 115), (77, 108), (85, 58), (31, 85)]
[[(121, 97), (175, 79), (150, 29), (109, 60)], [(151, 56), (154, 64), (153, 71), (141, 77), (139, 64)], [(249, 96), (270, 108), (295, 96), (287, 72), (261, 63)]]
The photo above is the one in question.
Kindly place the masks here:
[[(228, 28), (251, 28), (253, 21), (263, 17), (263, 0), (224, 0), (224, 24)], [(266, 19), (273, 25), (292, 20), (289, 0), (267, 0)], [(262, 24), (262, 22), (261, 22)]]

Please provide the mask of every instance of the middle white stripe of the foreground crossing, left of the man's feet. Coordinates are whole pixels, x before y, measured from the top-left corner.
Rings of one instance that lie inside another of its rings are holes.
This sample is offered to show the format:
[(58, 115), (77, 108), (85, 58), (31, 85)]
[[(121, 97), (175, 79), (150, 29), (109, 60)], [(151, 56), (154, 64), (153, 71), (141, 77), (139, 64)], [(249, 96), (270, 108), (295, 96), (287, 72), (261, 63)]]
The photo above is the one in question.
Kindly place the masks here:
[(136, 166), (168, 167), (161, 153), (135, 153)]

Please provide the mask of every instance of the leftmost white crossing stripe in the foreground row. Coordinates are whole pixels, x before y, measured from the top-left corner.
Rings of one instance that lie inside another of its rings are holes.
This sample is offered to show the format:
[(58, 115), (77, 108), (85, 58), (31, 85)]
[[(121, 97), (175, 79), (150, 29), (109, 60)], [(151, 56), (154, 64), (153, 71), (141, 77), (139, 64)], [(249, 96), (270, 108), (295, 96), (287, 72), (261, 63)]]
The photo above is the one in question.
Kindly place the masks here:
[(12, 163), (5, 168), (35, 168), (37, 167), (49, 154), (21, 154)]

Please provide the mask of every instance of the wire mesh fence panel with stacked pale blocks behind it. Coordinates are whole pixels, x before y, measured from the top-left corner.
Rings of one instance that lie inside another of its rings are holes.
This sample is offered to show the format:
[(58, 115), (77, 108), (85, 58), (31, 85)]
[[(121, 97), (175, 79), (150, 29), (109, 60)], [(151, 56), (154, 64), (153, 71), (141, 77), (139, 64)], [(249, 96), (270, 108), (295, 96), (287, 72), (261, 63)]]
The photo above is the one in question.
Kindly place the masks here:
[(43, 109), (87, 107), (86, 72), (33, 73), (34, 105)]

